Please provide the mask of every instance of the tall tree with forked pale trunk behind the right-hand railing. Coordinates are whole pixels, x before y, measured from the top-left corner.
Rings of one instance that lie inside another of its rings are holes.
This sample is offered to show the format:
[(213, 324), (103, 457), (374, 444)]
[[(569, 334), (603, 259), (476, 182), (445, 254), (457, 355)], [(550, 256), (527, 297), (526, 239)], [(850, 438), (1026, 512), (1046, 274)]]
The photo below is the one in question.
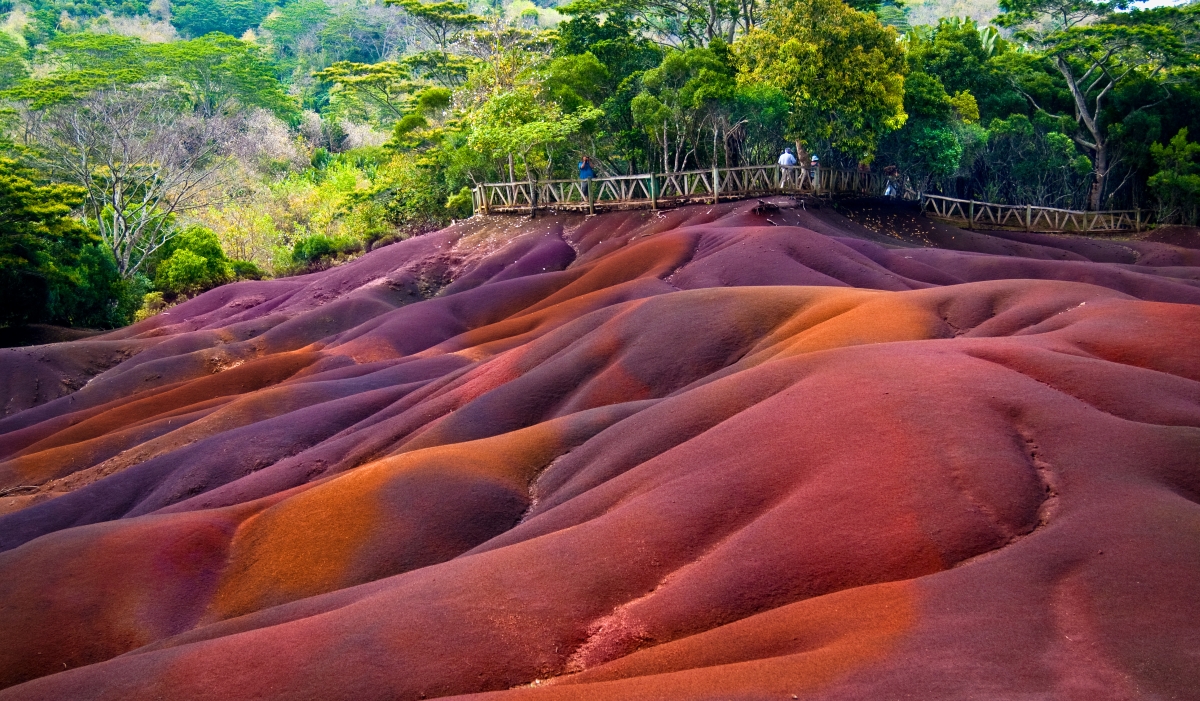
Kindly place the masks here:
[(1170, 80), (1174, 68), (1196, 60), (1200, 8), (1115, 12), (1123, 6), (1123, 0), (1001, 0), (1004, 14), (997, 18), (1043, 50), (1066, 80), (1080, 127), (1075, 142), (1092, 156), (1087, 205), (1093, 210), (1116, 164), (1105, 114), (1114, 89), (1133, 79)]

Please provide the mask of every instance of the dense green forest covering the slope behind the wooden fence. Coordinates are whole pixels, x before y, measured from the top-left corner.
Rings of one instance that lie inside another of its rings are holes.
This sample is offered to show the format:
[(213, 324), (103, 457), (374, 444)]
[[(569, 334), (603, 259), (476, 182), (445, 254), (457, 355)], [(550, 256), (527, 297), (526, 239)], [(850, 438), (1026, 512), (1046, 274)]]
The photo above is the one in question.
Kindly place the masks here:
[(476, 182), (571, 176), (582, 155), (661, 173), (791, 145), (926, 192), (1200, 214), (1198, 4), (0, 11), (0, 326), (114, 328), (336, 264), (468, 216)]

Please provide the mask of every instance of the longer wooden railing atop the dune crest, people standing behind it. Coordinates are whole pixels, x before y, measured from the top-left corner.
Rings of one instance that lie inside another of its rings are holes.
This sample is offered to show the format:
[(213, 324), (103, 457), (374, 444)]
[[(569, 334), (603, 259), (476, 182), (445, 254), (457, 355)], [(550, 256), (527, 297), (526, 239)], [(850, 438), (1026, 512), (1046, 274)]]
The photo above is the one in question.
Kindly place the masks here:
[(475, 211), (520, 214), (535, 209), (604, 211), (658, 209), (769, 194), (883, 194), (877, 173), (838, 168), (744, 166), (679, 173), (613, 175), (590, 180), (486, 182), (473, 193)]

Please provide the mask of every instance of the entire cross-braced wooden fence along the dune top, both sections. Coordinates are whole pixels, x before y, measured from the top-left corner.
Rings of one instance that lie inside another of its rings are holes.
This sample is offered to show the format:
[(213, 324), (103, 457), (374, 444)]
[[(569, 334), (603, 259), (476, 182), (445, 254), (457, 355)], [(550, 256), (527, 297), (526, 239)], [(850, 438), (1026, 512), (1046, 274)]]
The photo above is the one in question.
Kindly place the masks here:
[[(476, 212), (530, 214), (536, 210), (612, 211), (716, 203), (770, 194), (883, 194), (888, 179), (880, 173), (802, 166), (743, 166), (679, 173), (612, 175), (590, 180), (485, 182), (472, 193)], [(967, 228), (1019, 228), (1031, 232), (1141, 230), (1141, 210), (1075, 211), (1046, 206), (991, 204), (905, 191), (922, 211), (965, 222)]]

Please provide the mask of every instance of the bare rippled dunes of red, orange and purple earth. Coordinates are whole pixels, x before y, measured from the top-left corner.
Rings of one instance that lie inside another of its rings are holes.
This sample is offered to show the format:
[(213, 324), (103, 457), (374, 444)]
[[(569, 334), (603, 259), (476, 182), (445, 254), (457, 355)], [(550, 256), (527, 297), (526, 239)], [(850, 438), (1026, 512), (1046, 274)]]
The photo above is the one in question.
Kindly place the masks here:
[(0, 699), (1198, 697), (1200, 251), (877, 214), (472, 220), (0, 350)]

